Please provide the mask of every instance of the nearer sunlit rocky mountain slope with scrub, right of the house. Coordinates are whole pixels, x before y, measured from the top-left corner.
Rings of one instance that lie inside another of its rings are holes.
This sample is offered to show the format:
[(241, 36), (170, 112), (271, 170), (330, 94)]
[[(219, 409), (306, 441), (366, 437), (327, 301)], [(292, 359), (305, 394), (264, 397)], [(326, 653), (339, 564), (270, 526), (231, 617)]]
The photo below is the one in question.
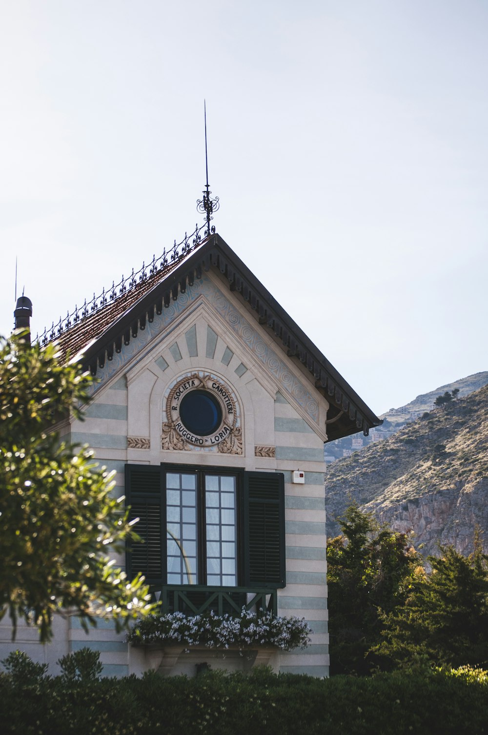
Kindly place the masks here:
[(425, 554), (439, 542), (470, 553), (476, 526), (488, 551), (488, 385), (329, 465), (329, 536), (339, 533), (334, 519), (351, 501), (397, 531), (413, 531)]

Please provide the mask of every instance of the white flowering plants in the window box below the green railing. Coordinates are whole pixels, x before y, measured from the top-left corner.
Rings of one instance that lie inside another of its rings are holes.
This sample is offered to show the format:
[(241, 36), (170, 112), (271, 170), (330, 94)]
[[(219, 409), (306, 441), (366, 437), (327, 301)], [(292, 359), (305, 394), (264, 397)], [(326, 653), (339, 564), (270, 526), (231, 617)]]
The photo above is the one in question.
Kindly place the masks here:
[(292, 650), (306, 648), (311, 633), (304, 618), (250, 612), (243, 607), (239, 617), (220, 616), (213, 611), (193, 616), (183, 612), (150, 615), (137, 621), (127, 640), (134, 645), (183, 643), (209, 648), (237, 645), (241, 650), (267, 645)]

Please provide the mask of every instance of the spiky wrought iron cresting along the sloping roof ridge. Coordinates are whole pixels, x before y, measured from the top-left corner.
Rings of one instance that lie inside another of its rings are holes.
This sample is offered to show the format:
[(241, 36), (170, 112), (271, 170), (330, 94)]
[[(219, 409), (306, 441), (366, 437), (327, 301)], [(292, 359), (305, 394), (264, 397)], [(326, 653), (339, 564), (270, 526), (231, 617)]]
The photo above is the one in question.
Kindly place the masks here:
[(209, 226), (208, 222), (205, 222), (202, 225), (195, 225), (195, 229), (191, 234), (187, 234), (186, 232), (184, 233), (184, 238), (181, 243), (176, 243), (175, 240), (174, 245), (169, 248), (168, 251), (166, 249), (163, 250), (162, 255), (158, 258), (153, 255), (152, 260), (147, 264), (146, 262), (143, 262), (143, 266), (139, 270), (134, 271), (134, 268), (132, 268), (130, 276), (127, 276), (127, 278), (122, 276), (122, 279), (118, 284), (115, 284), (115, 281), (112, 281), (112, 286), (104, 288), (98, 296), (93, 293), (93, 298), (89, 301), (85, 298), (85, 302), (82, 306), (76, 305), (71, 313), (68, 310), (65, 317), (60, 317), (60, 320), (56, 323), (53, 322), (51, 327), (46, 327), (43, 332), (36, 335), (34, 341), (41, 345), (46, 345), (46, 343), (56, 340), (72, 326), (79, 323), (80, 320), (87, 318), (100, 309), (103, 309), (104, 306), (107, 306), (108, 304), (113, 304), (116, 299), (121, 298), (123, 294), (134, 289), (138, 284), (154, 278), (157, 273), (161, 273), (165, 268), (175, 265), (179, 260), (184, 258), (188, 252), (201, 243), (202, 237), (205, 238), (214, 232), (215, 226)]

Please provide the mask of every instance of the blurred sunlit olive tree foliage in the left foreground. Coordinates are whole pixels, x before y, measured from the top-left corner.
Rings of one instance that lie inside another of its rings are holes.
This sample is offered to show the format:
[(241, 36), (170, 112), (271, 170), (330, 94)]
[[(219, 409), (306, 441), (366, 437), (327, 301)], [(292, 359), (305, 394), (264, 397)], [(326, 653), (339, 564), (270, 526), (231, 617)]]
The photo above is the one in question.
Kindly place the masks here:
[(119, 630), (154, 612), (144, 578), (126, 579), (110, 553), (134, 532), (114, 498), (113, 473), (52, 428), (82, 417), (92, 379), (60, 365), (56, 348), (0, 338), (0, 617), (52, 635), (55, 613), (82, 625), (110, 617)]

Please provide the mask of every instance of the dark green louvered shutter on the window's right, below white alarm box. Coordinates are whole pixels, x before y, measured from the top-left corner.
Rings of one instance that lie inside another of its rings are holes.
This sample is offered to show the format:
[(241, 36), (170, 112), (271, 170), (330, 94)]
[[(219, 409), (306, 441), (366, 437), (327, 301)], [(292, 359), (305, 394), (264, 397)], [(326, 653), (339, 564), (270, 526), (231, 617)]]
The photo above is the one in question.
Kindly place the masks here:
[(284, 476), (244, 473), (244, 584), (285, 587)]

